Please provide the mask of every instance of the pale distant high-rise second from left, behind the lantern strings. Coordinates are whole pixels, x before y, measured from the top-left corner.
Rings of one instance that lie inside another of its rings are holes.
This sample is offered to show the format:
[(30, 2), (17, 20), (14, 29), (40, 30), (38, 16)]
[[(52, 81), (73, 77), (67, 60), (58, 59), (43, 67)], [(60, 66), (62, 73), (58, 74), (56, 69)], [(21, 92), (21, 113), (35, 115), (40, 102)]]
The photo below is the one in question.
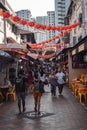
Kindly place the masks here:
[[(47, 25), (47, 16), (36, 17), (36, 23)], [(35, 33), (35, 39), (36, 39), (36, 43), (47, 40), (48, 39), (48, 32), (45, 30), (43, 30), (43, 31), (37, 30)]]

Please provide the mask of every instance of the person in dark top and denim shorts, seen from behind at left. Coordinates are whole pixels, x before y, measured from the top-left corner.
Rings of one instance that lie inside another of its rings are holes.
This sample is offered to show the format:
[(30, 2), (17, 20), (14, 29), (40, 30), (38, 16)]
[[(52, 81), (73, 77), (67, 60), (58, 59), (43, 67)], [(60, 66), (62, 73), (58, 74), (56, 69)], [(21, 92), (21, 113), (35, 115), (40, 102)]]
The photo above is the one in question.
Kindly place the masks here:
[(19, 109), (19, 114), (25, 112), (25, 91), (26, 91), (26, 85), (27, 84), (27, 79), (26, 77), (22, 74), (19, 73), (18, 78), (16, 78), (15, 82), (15, 88), (16, 88), (16, 93), (17, 93), (17, 98), (18, 98), (18, 109)]

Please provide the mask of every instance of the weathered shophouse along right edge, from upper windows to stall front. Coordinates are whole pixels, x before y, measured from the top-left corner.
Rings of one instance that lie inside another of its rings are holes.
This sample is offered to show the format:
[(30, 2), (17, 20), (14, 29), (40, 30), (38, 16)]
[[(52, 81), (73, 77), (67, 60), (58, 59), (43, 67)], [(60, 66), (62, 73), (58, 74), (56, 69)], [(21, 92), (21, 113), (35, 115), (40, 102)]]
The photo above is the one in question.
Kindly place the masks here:
[(80, 78), (81, 74), (87, 74), (87, 23), (85, 20), (87, 17), (87, 14), (85, 14), (87, 4), (85, 2), (72, 0), (67, 13), (69, 24), (80, 22), (80, 26), (70, 32), (69, 44), (71, 49), (68, 50), (69, 81), (73, 78)]

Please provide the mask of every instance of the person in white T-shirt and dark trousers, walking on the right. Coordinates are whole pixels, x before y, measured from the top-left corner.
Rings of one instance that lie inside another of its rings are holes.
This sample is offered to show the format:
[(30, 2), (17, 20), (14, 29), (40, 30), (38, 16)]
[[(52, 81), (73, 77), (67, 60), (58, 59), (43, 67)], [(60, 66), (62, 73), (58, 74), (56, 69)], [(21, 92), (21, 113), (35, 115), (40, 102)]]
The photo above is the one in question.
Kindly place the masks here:
[(65, 74), (63, 73), (62, 69), (58, 70), (58, 73), (56, 73), (56, 77), (58, 82), (59, 94), (61, 95), (65, 84)]

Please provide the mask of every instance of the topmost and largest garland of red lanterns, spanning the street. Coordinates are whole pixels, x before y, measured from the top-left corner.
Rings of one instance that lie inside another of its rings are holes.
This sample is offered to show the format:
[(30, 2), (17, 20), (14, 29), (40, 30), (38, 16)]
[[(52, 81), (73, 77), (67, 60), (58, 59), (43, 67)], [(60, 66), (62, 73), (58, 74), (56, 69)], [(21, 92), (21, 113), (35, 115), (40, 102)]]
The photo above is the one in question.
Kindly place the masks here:
[(74, 24), (71, 25), (65, 25), (65, 26), (49, 26), (49, 25), (42, 25), (42, 24), (38, 24), (35, 22), (31, 22), (31, 21), (27, 21), (24, 19), (21, 19), (18, 16), (14, 16), (13, 14), (10, 14), (9, 11), (3, 11), (2, 9), (0, 9), (0, 15), (3, 16), (4, 18), (13, 20), (13, 22), (22, 24), (22, 25), (26, 25), (26, 26), (30, 26), (30, 27), (34, 27), (36, 29), (42, 29), (42, 30), (48, 30), (48, 31), (61, 31), (61, 30), (67, 30), (67, 29), (72, 29), (72, 28), (76, 28), (77, 26), (80, 25), (80, 22), (76, 22)]

